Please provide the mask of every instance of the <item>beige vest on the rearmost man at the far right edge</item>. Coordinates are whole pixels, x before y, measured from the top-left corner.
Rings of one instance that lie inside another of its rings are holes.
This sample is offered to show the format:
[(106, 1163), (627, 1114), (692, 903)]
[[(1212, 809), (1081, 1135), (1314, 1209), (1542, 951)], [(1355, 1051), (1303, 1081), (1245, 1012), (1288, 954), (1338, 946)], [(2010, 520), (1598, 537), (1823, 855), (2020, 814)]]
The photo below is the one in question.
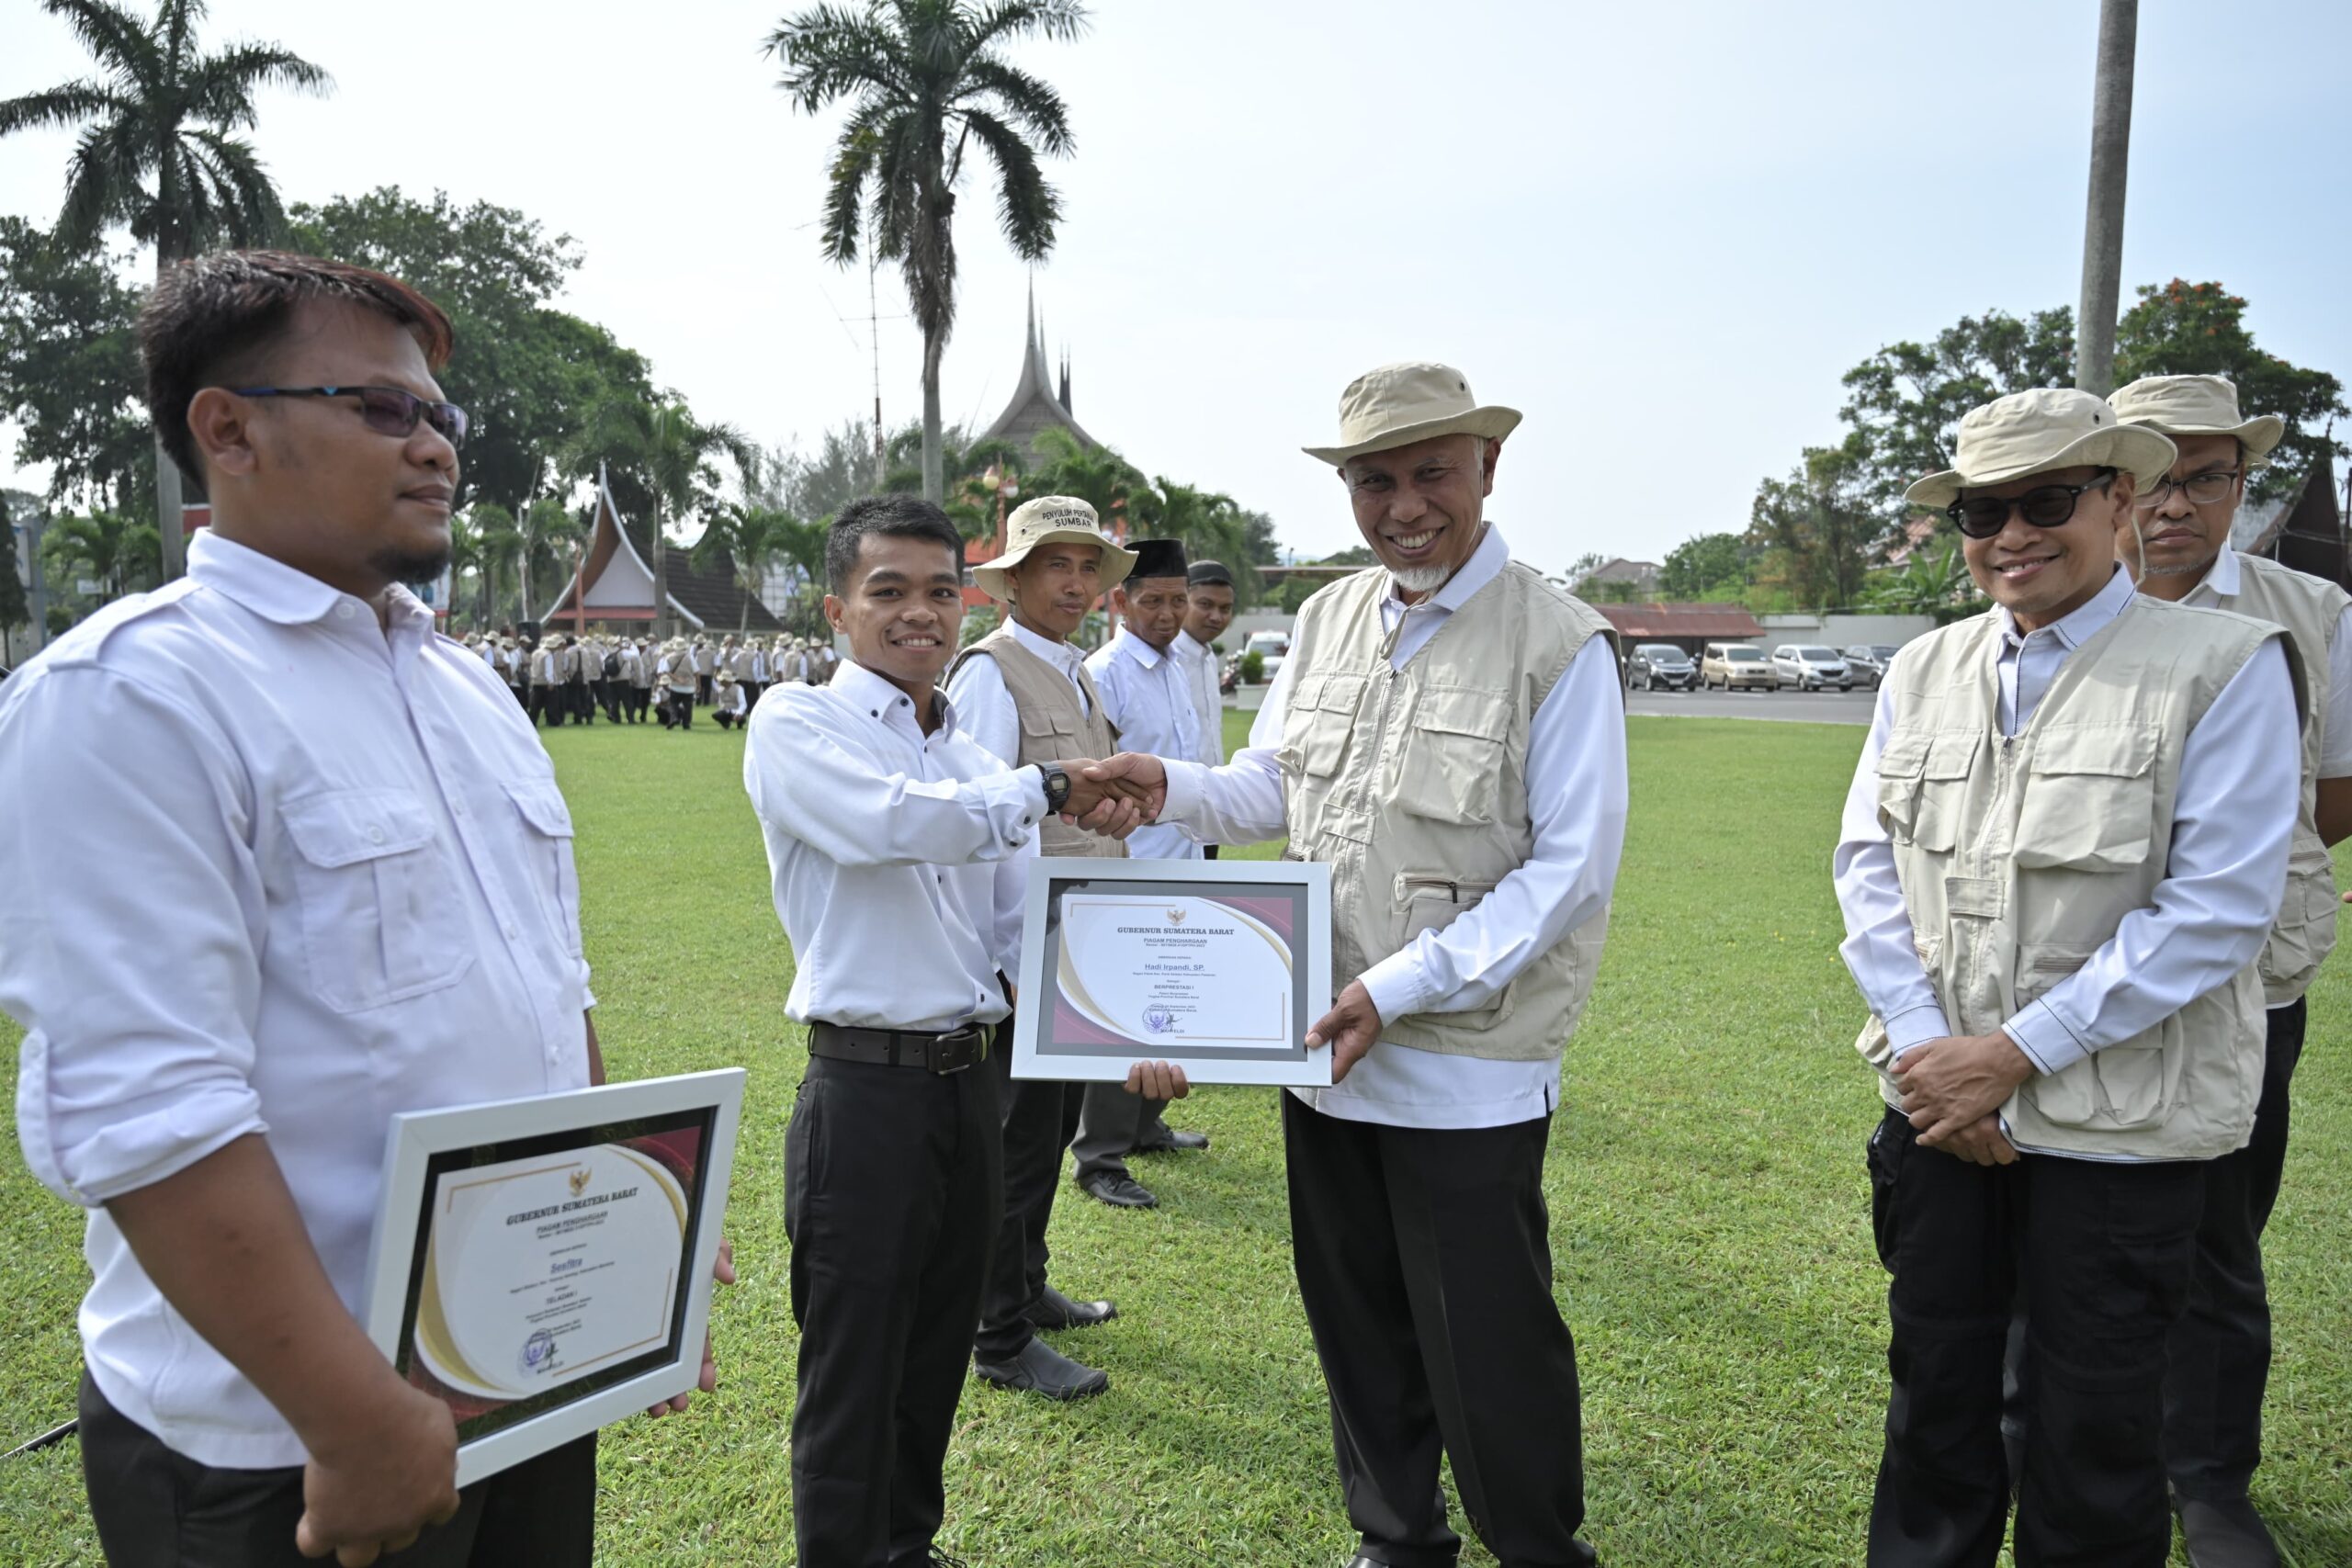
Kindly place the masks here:
[(2237, 595), (2223, 602), (2223, 609), (2286, 628), (2303, 656), (2303, 684), (2310, 691), (2303, 719), (2303, 811), (2286, 858), (2286, 903), (2263, 947), (2263, 1001), (2270, 1006), (2286, 1006), (2307, 992), (2336, 950), (2336, 860), (2319, 837), (2319, 748), (2328, 717), (2328, 646), (2345, 607), (2352, 607), (2352, 595), (2336, 583), (2260, 555), (2237, 557)]

